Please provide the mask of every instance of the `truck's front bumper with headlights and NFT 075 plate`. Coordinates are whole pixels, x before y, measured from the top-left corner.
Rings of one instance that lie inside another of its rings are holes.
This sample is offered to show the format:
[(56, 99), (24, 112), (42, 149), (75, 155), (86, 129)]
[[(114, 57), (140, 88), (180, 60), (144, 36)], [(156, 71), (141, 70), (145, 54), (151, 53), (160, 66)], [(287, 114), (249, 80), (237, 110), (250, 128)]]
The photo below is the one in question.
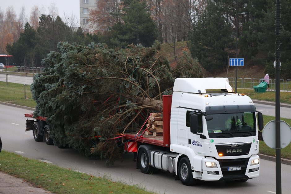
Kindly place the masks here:
[[(250, 158), (224, 160), (205, 157), (202, 160), (202, 180), (239, 180), (258, 177), (260, 174), (259, 163), (251, 165), (251, 162), (255, 159), (259, 159), (257, 154), (252, 155)], [(217, 167), (206, 167), (206, 162), (214, 162)], [(193, 177), (195, 177), (194, 172)]]

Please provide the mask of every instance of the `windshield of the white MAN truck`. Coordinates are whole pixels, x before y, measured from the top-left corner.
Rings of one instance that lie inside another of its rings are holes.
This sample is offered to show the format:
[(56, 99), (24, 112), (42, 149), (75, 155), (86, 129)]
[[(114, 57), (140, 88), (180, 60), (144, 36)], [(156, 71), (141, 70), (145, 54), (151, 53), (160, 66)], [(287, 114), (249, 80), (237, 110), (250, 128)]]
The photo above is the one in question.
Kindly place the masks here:
[(212, 114), (206, 121), (209, 137), (242, 137), (256, 135), (255, 113)]

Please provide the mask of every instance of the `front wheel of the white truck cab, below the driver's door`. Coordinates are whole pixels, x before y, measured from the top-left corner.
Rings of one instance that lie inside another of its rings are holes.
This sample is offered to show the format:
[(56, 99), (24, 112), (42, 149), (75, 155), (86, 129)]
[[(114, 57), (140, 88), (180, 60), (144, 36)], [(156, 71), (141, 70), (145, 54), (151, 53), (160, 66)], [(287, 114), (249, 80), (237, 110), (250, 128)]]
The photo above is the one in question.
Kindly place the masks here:
[(178, 175), (183, 185), (197, 184), (198, 180), (193, 178), (191, 165), (188, 157), (183, 157), (179, 162)]

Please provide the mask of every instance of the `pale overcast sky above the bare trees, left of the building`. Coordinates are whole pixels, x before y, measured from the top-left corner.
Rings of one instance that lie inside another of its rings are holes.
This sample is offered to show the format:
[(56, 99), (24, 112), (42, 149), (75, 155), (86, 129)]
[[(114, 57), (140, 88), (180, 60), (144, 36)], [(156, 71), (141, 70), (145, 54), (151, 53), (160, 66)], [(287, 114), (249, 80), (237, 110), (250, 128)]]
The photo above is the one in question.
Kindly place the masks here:
[(13, 6), (16, 15), (20, 13), (22, 6), (25, 7), (26, 17), (29, 21), (31, 8), (35, 5), (39, 6), (41, 11), (45, 11), (49, 14), (48, 7), (54, 2), (55, 7), (58, 8), (59, 16), (63, 19), (64, 13), (66, 16), (74, 14), (78, 21), (80, 21), (80, 1), (79, 0), (0, 0), (0, 8), (2, 11), (6, 11), (6, 8)]

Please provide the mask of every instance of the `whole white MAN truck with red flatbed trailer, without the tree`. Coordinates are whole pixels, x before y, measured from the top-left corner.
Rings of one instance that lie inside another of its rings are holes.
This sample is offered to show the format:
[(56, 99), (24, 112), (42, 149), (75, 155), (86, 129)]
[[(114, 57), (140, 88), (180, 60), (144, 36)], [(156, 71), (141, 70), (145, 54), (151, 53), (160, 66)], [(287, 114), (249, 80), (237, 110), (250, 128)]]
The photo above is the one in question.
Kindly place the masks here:
[[(176, 79), (173, 94), (163, 96), (162, 115), (163, 136), (145, 135), (146, 129), (123, 135), (142, 173), (169, 171), (184, 185), (259, 176), (263, 115), (250, 97), (233, 91), (228, 78)], [(26, 130), (52, 144), (46, 118), (35, 119), (27, 120)]]

